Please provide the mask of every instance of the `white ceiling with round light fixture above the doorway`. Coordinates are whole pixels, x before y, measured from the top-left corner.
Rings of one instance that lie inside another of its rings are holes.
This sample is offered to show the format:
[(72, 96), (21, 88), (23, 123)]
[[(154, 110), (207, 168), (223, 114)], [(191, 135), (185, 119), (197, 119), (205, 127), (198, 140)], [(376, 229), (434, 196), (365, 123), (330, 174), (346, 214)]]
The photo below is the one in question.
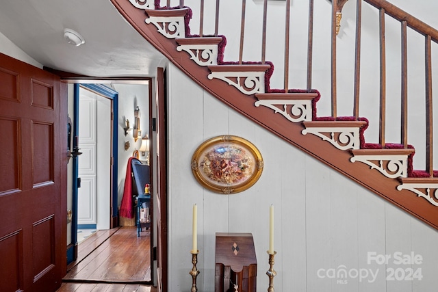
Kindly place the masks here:
[(91, 77), (152, 77), (165, 61), (110, 0), (0, 0), (0, 32), (43, 66)]

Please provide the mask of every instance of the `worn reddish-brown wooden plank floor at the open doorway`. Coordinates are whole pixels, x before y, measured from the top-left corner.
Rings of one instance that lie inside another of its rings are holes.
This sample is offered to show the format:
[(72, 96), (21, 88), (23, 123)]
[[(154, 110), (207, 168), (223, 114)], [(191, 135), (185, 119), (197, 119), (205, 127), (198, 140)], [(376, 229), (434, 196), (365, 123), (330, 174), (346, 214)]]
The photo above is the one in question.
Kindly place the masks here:
[(79, 244), (57, 291), (155, 291), (151, 287), (149, 230), (135, 226), (98, 230)]

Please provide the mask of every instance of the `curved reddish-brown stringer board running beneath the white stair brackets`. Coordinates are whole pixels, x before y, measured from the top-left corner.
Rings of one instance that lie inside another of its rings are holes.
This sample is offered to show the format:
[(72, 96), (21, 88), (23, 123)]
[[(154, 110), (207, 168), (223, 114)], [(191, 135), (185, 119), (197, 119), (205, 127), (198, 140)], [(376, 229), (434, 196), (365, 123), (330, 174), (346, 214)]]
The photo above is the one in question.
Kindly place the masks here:
[(126, 0), (111, 1), (139, 34), (207, 92), (289, 144), (438, 229), (438, 208), (428, 200), (418, 198), (408, 188), (398, 190), (398, 178), (387, 178), (365, 163), (352, 163), (352, 153), (349, 150), (339, 150), (315, 135), (302, 135), (302, 130), (305, 129), (302, 122), (290, 122), (282, 114), (275, 114), (269, 107), (256, 107), (257, 98), (254, 94), (248, 96), (233, 86), (224, 86), (224, 81), (220, 79), (209, 79), (209, 68), (198, 66), (188, 53), (178, 51), (177, 40), (165, 38), (157, 32), (154, 25), (146, 25), (144, 10), (135, 8)]

